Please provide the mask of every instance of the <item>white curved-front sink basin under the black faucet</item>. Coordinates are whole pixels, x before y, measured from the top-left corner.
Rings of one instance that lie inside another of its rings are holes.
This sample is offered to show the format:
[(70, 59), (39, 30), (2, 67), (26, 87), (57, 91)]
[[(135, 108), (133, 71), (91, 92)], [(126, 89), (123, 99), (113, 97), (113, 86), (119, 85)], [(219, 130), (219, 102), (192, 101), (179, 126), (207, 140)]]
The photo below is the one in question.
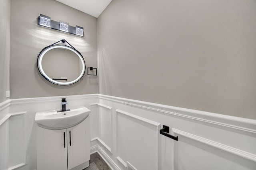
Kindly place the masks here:
[(90, 109), (81, 106), (70, 108), (70, 111), (44, 111), (37, 112), (35, 122), (40, 127), (52, 130), (66, 129), (81, 123), (91, 112)]

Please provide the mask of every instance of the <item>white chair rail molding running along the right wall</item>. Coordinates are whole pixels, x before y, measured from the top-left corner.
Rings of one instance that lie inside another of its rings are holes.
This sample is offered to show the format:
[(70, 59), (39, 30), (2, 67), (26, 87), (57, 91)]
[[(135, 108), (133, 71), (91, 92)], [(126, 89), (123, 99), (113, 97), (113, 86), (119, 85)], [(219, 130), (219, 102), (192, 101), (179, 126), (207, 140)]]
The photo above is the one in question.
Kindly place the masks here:
[(126, 98), (119, 98), (114, 96), (107, 96), (98, 94), (99, 99), (109, 100), (121, 104), (126, 104), (133, 107), (144, 108), (169, 115), (176, 115), (179, 117), (186, 117), (214, 125), (220, 125), (228, 128), (234, 128), (241, 131), (256, 133), (256, 120), (247, 119), (243, 117), (235, 117), (230, 115), (223, 115), (218, 113), (211, 113), (207, 111), (200, 111), (194, 109), (186, 109), (182, 107), (167, 106), (162, 104), (155, 104), (150, 102), (143, 102), (139, 100), (132, 100)]

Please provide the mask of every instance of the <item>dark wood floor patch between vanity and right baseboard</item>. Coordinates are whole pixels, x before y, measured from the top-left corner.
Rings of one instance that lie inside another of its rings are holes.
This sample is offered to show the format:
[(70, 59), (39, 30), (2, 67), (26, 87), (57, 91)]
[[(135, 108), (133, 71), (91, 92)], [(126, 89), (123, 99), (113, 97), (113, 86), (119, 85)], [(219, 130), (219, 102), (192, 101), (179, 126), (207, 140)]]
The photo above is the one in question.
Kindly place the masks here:
[(85, 168), (84, 170), (111, 170), (97, 152), (91, 154), (91, 159), (89, 163), (90, 166), (88, 168)]

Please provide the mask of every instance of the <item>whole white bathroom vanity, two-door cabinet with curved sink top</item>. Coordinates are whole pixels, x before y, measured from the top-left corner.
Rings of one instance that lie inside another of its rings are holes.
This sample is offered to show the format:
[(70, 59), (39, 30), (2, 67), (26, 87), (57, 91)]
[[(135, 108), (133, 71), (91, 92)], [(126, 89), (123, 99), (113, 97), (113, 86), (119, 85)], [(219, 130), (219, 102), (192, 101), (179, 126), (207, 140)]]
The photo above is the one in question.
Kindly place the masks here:
[(37, 170), (82, 170), (89, 166), (89, 113), (86, 107), (36, 113)]

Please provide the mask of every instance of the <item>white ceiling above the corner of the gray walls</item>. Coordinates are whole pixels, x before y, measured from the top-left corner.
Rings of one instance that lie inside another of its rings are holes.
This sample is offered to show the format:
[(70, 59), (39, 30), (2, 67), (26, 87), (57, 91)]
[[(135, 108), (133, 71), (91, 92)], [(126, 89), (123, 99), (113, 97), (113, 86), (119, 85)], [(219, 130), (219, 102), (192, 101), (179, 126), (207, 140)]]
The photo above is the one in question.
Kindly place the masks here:
[(112, 0), (56, 0), (98, 18)]

